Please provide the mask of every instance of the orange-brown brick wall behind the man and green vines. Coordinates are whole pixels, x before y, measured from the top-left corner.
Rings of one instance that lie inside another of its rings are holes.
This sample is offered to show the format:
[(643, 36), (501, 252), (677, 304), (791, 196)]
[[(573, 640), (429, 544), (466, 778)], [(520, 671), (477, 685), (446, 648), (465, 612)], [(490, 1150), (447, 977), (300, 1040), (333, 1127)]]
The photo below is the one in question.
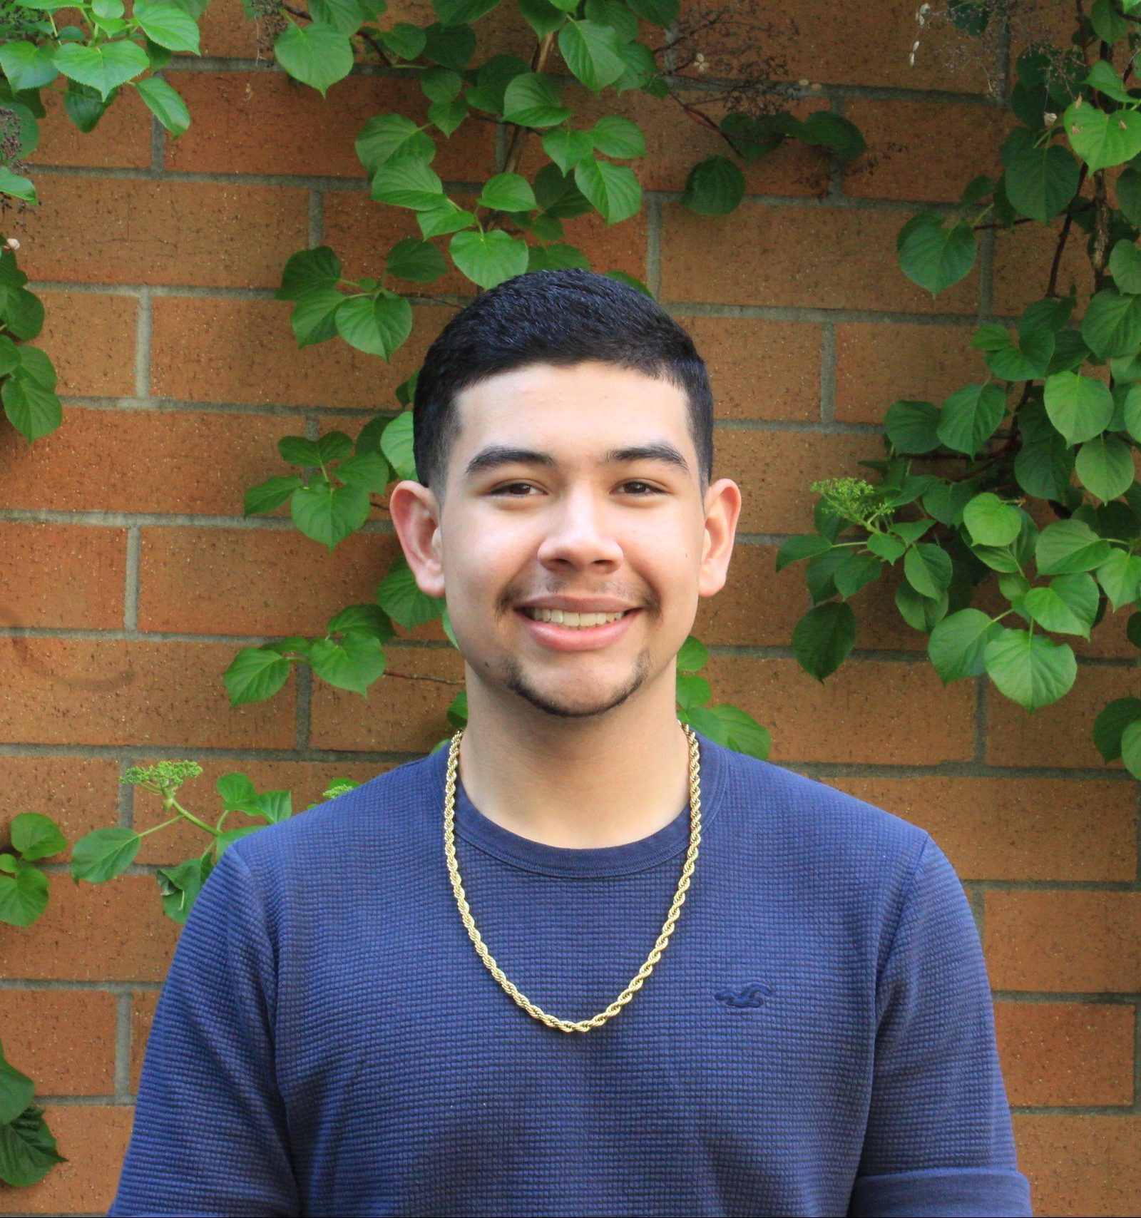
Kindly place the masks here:
[[(823, 85), (806, 107), (845, 113), (869, 152), (841, 172), (788, 145), (748, 171), (733, 217), (697, 217), (678, 190), (716, 136), (627, 96), (648, 134), (645, 212), (610, 230), (574, 222), (570, 239), (598, 269), (644, 278), (712, 369), (718, 473), (745, 495), (729, 586), (697, 627), (715, 695), (772, 728), (774, 761), (935, 836), (983, 935), (1035, 1211), (1141, 1213), (1136, 784), (1089, 742), (1096, 710), (1137, 692), (1125, 615), (1079, 642), (1074, 692), (1031, 719), (983, 682), (941, 688), (890, 587), (856, 600), (857, 649), (818, 685), (789, 648), (801, 570), (773, 572), (779, 542), (810, 527), (807, 484), (878, 457), (886, 406), (938, 401), (975, 375), (971, 326), (1045, 286), (1036, 225), (988, 233), (977, 270), (935, 302), (896, 269), (902, 220), (995, 169), (1007, 125), (985, 93), (1005, 50), (952, 71), (949, 39), (929, 30), (908, 68), (912, 10), (738, 4), (788, 79)], [(507, 10), (490, 21), (496, 50), (526, 48)], [(44, 811), (72, 839), (155, 823), (157, 800), (118, 778), (161, 758), (202, 764), (207, 806), (213, 781), (240, 769), (304, 808), (334, 775), (363, 781), (430, 748), (454, 692), (386, 677), (365, 702), (298, 669), (272, 702), (228, 706), (220, 675), (239, 647), (321, 631), (373, 597), (396, 553), (380, 512), (330, 555), (286, 509), (242, 519), (244, 490), (281, 473), (281, 435), (356, 434), (391, 409), (449, 314), (419, 307), (391, 368), (343, 343), (296, 351), (289, 306), (272, 300), (285, 258), (328, 241), (360, 274), (414, 231), (368, 201), (352, 152), (364, 118), (407, 85), (365, 69), (321, 101), (257, 61), (236, 0), (212, 0), (203, 28), (206, 57), (170, 69), (190, 132), (169, 144), (132, 96), (89, 136), (54, 113), (37, 155), (43, 206), (11, 229), (44, 295), (66, 412), (33, 447), (0, 426), (0, 823)], [(714, 73), (738, 67), (709, 50)], [(490, 124), (469, 123), (436, 164), (475, 184), (502, 152)], [(1085, 286), (1076, 259), (1073, 270)], [(392, 647), (391, 669), (460, 675), (438, 626), (416, 636)], [(0, 927), (0, 1037), (69, 1160), (32, 1190), (0, 1191), (0, 1212), (94, 1213), (111, 1200), (177, 940), (152, 873), (192, 849), (172, 838), (149, 838), (129, 876), (97, 888), (50, 865), (44, 917)]]

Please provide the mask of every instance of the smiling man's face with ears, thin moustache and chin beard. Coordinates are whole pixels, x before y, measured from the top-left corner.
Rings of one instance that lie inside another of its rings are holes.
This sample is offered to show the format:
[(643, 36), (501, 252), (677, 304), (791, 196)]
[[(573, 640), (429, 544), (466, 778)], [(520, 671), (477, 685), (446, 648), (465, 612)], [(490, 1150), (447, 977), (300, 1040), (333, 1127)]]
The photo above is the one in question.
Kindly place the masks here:
[[(728, 563), (723, 546), (707, 560), (726, 523), (711, 538), (706, 504), (723, 516), (728, 496), (728, 548), (739, 508), (727, 480), (701, 495), (682, 390), (539, 364), (466, 390), (457, 414), (442, 505), (416, 488), (438, 527), (427, 560), (409, 559), (424, 591), (447, 596), (469, 680), (559, 716), (672, 691), (698, 597)], [(397, 504), (409, 552), (401, 516)]]

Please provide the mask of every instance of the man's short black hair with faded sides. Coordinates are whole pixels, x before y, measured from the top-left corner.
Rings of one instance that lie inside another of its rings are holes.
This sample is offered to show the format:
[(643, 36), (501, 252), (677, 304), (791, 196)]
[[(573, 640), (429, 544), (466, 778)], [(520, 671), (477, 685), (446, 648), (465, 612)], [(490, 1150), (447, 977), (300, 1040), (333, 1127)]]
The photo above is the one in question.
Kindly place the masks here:
[(443, 328), (424, 357), (413, 409), (413, 454), (437, 484), (455, 432), (455, 400), (471, 385), (531, 364), (593, 359), (676, 385), (689, 406), (698, 479), (714, 464), (714, 398), (693, 339), (651, 297), (617, 279), (571, 268), (516, 275)]

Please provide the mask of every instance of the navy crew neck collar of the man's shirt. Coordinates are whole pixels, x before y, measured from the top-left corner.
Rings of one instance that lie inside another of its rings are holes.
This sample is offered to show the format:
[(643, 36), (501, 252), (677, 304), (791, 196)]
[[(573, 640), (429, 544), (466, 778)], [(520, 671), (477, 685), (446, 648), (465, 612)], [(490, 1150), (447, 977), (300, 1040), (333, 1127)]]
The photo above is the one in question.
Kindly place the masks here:
[[(720, 808), (725, 783), (722, 749), (698, 733), (698, 750), (701, 762), (701, 836), (714, 822)], [(447, 750), (437, 756), (440, 781), (447, 770)], [(566, 847), (547, 845), (511, 833), (488, 820), (468, 797), (463, 782), (455, 781), (455, 833), (464, 842), (490, 854), (502, 862), (533, 871), (544, 876), (594, 878), (602, 876), (631, 876), (655, 867), (686, 850), (689, 845), (689, 804), (649, 837), (625, 845), (599, 847), (575, 850)]]

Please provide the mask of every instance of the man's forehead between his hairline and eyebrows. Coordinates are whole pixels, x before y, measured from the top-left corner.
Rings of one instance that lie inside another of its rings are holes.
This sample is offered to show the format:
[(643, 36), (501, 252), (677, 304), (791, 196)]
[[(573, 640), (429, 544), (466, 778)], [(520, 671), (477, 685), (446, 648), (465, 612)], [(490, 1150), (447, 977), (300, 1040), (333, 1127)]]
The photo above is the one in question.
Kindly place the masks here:
[[(546, 445), (585, 454), (619, 443), (671, 440), (693, 453), (686, 393), (667, 380), (594, 361), (498, 373), (455, 400), (453, 454), (488, 442)], [(694, 454), (695, 456), (695, 454)]]

